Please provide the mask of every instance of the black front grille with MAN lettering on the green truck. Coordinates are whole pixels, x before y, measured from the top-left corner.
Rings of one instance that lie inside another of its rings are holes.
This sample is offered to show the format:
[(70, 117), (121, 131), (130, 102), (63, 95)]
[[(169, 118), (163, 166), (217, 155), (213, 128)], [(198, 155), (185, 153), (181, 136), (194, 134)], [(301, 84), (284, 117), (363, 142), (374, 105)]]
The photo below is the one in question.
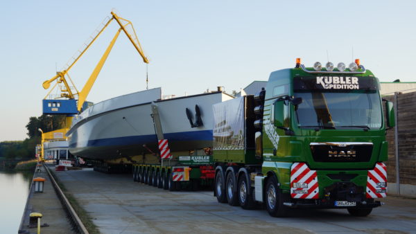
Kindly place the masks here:
[(325, 142), (311, 143), (310, 147), (315, 162), (350, 163), (370, 161), (373, 144), (361, 142)]

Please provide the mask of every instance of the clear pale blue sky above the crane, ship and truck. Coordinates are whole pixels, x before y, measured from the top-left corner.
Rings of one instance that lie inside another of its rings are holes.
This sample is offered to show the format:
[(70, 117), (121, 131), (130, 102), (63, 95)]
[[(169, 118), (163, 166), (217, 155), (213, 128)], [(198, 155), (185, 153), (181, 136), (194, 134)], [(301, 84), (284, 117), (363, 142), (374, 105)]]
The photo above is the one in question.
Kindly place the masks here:
[[(164, 94), (239, 90), (271, 71), (361, 59), (381, 81), (415, 81), (416, 1), (2, 1), (0, 141), (26, 138), (55, 75), (112, 8), (135, 26)], [(116, 31), (112, 24), (70, 72), (78, 89)], [(120, 35), (88, 100), (146, 88), (146, 66)]]

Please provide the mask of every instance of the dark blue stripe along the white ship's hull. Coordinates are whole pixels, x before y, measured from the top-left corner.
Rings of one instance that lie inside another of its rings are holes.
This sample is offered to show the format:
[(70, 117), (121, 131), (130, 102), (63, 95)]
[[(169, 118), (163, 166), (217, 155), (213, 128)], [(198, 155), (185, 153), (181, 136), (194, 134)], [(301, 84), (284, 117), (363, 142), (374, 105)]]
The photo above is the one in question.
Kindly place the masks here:
[[(192, 131), (192, 132), (176, 132), (164, 134), (164, 138), (169, 142), (173, 141), (212, 141), (212, 130)], [(89, 140), (87, 147), (99, 146), (119, 146), (119, 145), (143, 145), (146, 143), (157, 143), (155, 134), (143, 136), (123, 136), (116, 138), (103, 138), (96, 140)], [(82, 144), (84, 145), (84, 144)], [(78, 143), (71, 143), (70, 148), (79, 147)]]

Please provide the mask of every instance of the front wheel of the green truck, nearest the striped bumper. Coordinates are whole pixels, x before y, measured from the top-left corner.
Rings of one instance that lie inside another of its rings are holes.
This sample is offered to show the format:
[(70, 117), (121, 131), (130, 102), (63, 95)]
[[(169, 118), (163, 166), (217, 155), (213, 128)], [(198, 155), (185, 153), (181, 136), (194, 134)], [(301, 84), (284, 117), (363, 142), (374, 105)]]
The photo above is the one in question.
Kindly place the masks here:
[(272, 217), (285, 217), (288, 213), (275, 177), (271, 177), (266, 183), (266, 209)]

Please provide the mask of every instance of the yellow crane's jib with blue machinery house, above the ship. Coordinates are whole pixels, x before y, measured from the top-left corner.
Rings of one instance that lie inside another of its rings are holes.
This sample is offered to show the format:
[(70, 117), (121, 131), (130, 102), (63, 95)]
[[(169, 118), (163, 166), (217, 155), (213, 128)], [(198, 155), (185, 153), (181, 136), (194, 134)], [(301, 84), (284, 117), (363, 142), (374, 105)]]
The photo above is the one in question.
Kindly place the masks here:
[[(144, 55), (143, 49), (141, 48), (139, 39), (137, 39), (137, 35), (135, 32), (135, 28), (133, 28), (132, 22), (128, 21), (127, 19), (123, 19), (116, 15), (116, 13), (111, 12), (112, 17), (109, 17), (104, 23), (103, 27), (100, 30), (97, 30), (97, 33), (94, 37), (92, 37), (92, 40), (85, 44), (85, 48), (81, 51), (79, 51), (79, 54), (73, 58), (73, 61), (70, 62), (67, 65), (67, 68), (59, 71), (56, 73), (56, 75), (43, 82), (42, 86), (44, 89), (49, 89), (51, 86), (51, 83), (56, 81), (53, 88), (49, 91), (49, 93), (46, 95), (46, 97), (43, 100), (43, 113), (44, 114), (66, 114), (67, 116), (72, 116), (73, 114), (78, 114), (80, 110), (83, 107), (83, 104), (85, 102), (85, 99), (87, 98), (89, 91), (91, 91), (92, 86), (100, 73), (101, 69), (103, 68), (103, 65), (105, 63), (105, 60), (107, 60), (108, 55), (110, 54), (110, 51), (112, 50), (112, 47), (114, 46), (114, 43), (116, 42), (116, 39), (119, 37), (119, 34), (121, 31), (125, 33), (125, 35), (130, 39), (130, 42), (132, 42), (133, 46), (135, 46), (137, 52), (139, 52), (139, 55), (143, 58), (143, 62), (148, 64), (148, 58)], [(87, 51), (87, 49), (96, 41), (96, 39), (103, 33), (105, 28), (113, 21), (113, 19), (119, 24), (120, 28), (117, 30), (116, 35), (114, 35), (112, 41), (110, 42), (110, 45), (105, 50), (105, 53), (101, 57), (101, 60), (96, 65), (94, 71), (92, 71), (91, 75), (89, 76), (89, 79), (85, 83), (83, 89), (81, 91), (78, 91), (76, 89), (75, 85), (73, 84), (71, 78), (69, 77), (69, 70), (72, 68), (76, 62), (84, 55), (84, 53)], [(128, 32), (128, 28), (130, 27), (132, 29), (132, 33)], [(69, 82), (71, 82), (73, 85), (72, 87), (69, 85)], [(147, 74), (146, 74), (146, 82), (148, 82)], [(51, 91), (55, 89), (55, 87), (58, 84), (63, 84), (62, 88), (60, 89), (60, 96), (58, 98), (54, 99), (48, 99)], [(78, 101), (77, 101), (78, 97)], [(62, 99), (65, 98), (65, 99)], [(71, 120), (68, 120), (67, 118), (67, 127), (69, 127)]]

